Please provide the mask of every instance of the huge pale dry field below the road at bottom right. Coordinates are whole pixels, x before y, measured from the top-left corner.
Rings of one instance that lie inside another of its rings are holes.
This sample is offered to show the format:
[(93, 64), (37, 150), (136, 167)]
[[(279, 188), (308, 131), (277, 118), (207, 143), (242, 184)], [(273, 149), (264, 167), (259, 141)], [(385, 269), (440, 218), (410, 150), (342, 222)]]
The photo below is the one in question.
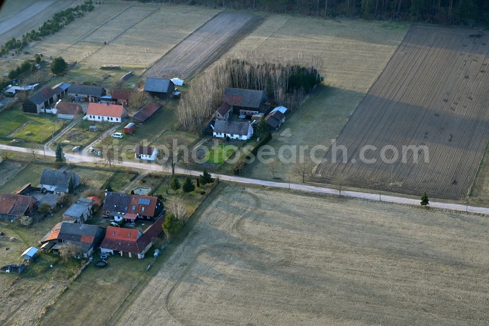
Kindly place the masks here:
[(216, 190), (119, 325), (489, 321), (487, 217), (287, 190)]

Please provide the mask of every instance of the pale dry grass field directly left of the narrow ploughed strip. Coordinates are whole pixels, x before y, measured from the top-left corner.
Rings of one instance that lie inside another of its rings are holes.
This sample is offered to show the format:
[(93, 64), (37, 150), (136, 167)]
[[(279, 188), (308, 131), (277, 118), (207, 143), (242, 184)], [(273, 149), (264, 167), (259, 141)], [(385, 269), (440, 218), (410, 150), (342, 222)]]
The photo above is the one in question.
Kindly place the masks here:
[(84, 63), (149, 67), (217, 13), (202, 7), (162, 6)]

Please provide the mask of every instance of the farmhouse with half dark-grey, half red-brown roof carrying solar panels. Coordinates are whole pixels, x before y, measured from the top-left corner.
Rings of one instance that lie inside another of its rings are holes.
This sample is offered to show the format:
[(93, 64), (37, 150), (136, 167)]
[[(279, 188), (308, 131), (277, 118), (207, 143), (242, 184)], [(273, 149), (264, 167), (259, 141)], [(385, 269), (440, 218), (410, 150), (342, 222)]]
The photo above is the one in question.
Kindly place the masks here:
[(164, 205), (156, 197), (131, 195), (108, 191), (104, 201), (104, 216), (114, 221), (126, 220), (134, 224), (137, 220), (154, 222), (164, 211)]

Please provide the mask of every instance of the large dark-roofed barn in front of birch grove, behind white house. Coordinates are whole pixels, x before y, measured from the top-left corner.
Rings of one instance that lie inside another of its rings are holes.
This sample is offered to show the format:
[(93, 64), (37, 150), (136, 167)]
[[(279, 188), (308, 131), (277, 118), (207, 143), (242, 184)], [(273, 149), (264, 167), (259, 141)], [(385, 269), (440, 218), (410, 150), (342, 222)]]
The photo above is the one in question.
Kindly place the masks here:
[(222, 101), (228, 103), (234, 113), (240, 116), (252, 116), (256, 113), (266, 114), (268, 107), (265, 105), (268, 97), (263, 91), (245, 90), (241, 88), (226, 88)]

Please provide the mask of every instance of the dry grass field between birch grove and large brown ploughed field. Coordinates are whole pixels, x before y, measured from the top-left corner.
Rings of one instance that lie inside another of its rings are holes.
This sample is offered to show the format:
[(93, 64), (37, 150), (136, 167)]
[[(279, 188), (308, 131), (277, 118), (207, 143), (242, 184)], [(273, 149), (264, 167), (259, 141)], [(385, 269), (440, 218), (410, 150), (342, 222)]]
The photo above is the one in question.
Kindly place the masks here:
[[(325, 76), (327, 85), (318, 87), (297, 112), (288, 115), (268, 144), (276, 150), (282, 145), (329, 145), (384, 69), (408, 27), (404, 23), (334, 21), (285, 15), (267, 18), (234, 47), (231, 55), (255, 50), (259, 55), (287, 56), (291, 48), (296, 49), (294, 53), (316, 55), (323, 60), (320, 73)], [(282, 164), (280, 176), (299, 181), (290, 168), (291, 164)], [(244, 175), (271, 179), (261, 163), (248, 165)]]

